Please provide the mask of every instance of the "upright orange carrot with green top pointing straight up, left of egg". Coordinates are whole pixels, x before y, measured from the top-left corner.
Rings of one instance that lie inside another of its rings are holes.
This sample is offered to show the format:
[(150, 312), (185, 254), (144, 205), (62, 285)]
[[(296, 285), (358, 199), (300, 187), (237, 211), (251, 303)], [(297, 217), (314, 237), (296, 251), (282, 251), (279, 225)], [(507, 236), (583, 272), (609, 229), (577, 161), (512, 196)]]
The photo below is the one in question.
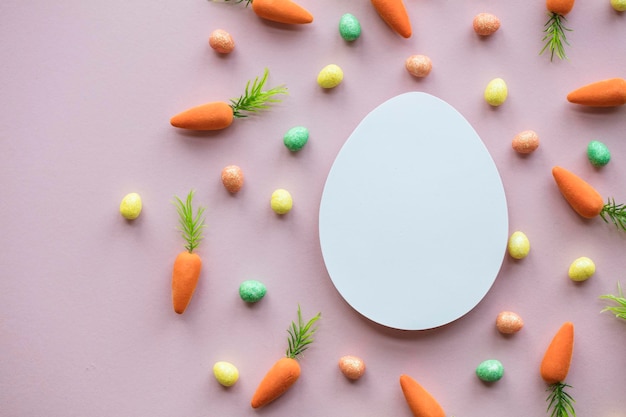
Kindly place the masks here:
[(202, 259), (193, 250), (202, 240), (202, 229), (204, 228), (204, 207), (199, 207), (195, 216), (193, 214), (192, 199), (194, 191), (187, 194), (187, 200), (183, 202), (180, 198), (174, 197), (174, 203), (178, 211), (180, 231), (187, 241), (186, 251), (178, 254), (174, 261), (172, 271), (172, 304), (174, 311), (183, 314), (191, 301), (200, 270), (202, 269)]

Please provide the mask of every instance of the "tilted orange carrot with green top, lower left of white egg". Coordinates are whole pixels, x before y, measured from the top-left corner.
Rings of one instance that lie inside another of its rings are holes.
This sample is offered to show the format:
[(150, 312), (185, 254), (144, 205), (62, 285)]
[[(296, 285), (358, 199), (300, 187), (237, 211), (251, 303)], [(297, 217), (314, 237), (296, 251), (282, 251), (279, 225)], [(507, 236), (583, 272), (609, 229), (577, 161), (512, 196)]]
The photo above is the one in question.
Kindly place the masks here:
[(259, 383), (250, 405), (252, 408), (263, 407), (283, 395), (300, 377), (298, 356), (313, 343), (313, 334), (317, 327), (313, 326), (321, 317), (315, 317), (304, 323), (300, 306), (298, 306), (298, 323), (292, 322), (287, 329), (289, 333), (286, 356), (274, 363)]

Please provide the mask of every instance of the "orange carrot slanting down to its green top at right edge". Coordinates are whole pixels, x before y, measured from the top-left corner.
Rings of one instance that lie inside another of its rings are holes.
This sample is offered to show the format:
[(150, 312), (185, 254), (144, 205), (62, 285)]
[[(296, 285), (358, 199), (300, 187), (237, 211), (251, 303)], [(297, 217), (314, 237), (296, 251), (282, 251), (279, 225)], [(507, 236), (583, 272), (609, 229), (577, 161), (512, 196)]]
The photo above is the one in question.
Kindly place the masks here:
[(591, 184), (565, 168), (555, 166), (552, 176), (565, 200), (580, 216), (587, 219), (600, 216), (606, 223), (610, 221), (626, 231), (626, 205), (616, 204), (612, 198), (604, 203)]

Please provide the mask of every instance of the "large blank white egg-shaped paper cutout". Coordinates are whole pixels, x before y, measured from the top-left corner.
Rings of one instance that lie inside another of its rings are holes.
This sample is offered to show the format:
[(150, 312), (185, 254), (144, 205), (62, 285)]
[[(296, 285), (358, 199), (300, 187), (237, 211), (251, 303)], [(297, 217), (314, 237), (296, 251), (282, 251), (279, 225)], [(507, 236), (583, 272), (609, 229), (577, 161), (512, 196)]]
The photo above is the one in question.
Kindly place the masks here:
[(471, 311), (500, 271), (504, 187), (456, 109), (401, 94), (370, 112), (339, 151), (319, 236), (330, 279), (356, 311), (396, 329), (439, 327)]

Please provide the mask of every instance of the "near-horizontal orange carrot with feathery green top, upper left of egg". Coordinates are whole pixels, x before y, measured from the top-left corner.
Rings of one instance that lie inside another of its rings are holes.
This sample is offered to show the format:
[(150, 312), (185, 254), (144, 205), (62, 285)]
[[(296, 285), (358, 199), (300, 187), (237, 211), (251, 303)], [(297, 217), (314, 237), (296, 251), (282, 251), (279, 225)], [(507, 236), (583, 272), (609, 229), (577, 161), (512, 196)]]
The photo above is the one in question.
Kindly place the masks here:
[(269, 108), (270, 103), (280, 102), (274, 96), (286, 94), (287, 88), (278, 86), (263, 90), (269, 71), (266, 68), (263, 76), (248, 81), (244, 93), (238, 98), (224, 101), (214, 101), (192, 107), (170, 119), (174, 127), (190, 130), (221, 130), (230, 126), (234, 119), (247, 117), (249, 113)]

